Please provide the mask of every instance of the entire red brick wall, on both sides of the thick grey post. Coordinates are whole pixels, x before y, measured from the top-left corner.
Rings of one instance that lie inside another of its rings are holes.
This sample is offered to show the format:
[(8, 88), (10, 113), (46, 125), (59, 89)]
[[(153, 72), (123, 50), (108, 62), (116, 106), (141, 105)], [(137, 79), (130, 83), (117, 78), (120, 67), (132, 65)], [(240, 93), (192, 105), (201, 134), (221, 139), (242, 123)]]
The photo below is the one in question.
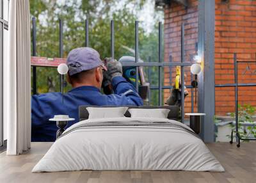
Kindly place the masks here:
[[(256, 1), (216, 0), (215, 17), (215, 80), (216, 84), (234, 83), (233, 53), (241, 61), (256, 61)], [(198, 34), (197, 0), (189, 0), (189, 7), (172, 3), (164, 10), (164, 61), (172, 54), (173, 61), (180, 61), (180, 25), (185, 23), (186, 61), (195, 54)], [(251, 63), (250, 72), (243, 75), (247, 62), (239, 64), (239, 82), (256, 82), (256, 63)], [(174, 68), (173, 68), (174, 69)], [(186, 69), (186, 84), (190, 83), (189, 68)], [(175, 81), (173, 70), (172, 84)], [(169, 70), (164, 68), (164, 84), (168, 85)], [(191, 91), (189, 91), (191, 93)], [(256, 87), (239, 88), (239, 104), (256, 106)], [(164, 91), (164, 98), (169, 90)], [(186, 111), (191, 110), (191, 99), (185, 100)], [(234, 88), (216, 88), (216, 115), (234, 111)]]

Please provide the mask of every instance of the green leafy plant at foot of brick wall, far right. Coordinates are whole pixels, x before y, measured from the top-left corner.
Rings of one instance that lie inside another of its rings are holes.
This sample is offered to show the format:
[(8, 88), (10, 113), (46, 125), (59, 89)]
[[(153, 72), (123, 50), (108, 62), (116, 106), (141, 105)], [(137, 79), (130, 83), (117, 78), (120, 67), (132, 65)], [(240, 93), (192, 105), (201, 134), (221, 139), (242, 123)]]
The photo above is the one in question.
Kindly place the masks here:
[[(244, 122), (254, 123), (253, 115), (255, 115), (255, 110), (256, 108), (251, 105), (238, 105), (238, 129), (241, 138), (252, 138), (252, 136), (256, 138), (256, 125), (249, 126), (246, 129), (243, 126)], [(236, 114), (231, 113), (230, 116), (234, 118)], [(232, 128), (234, 128), (234, 125), (232, 125)]]

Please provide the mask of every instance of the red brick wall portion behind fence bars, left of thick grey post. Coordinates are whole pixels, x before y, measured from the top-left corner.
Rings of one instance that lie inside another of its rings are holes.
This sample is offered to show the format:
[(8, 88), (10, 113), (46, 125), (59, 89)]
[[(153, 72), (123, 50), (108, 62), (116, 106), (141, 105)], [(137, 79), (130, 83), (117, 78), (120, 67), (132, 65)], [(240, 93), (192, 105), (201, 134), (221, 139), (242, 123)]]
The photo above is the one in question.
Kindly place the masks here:
[[(185, 28), (185, 61), (191, 61), (195, 54), (195, 47), (198, 34), (198, 2), (189, 0), (189, 8), (178, 3), (172, 3), (164, 10), (164, 61), (169, 61), (169, 54), (172, 54), (172, 61), (180, 61), (180, 33), (181, 24)], [(190, 68), (185, 68), (186, 84), (190, 84)], [(170, 84), (170, 70), (164, 68), (164, 85)], [(172, 69), (172, 85), (175, 84), (175, 68)], [(191, 94), (191, 90), (189, 90)], [(164, 99), (170, 95), (170, 90), (164, 91)], [(185, 111), (191, 111), (191, 97), (186, 97)]]

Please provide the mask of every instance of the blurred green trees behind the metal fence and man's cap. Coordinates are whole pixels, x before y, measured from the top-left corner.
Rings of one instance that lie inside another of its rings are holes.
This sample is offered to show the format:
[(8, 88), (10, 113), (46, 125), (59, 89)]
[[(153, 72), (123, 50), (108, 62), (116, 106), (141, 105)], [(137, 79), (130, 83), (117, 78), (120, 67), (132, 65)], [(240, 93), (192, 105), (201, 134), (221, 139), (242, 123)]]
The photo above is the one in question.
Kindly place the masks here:
[[(110, 56), (110, 20), (115, 21), (115, 58), (134, 56), (125, 47), (134, 49), (134, 21), (138, 19), (134, 12), (141, 10), (145, 0), (122, 0), (122, 10), (115, 8), (119, 1), (114, 0), (66, 0), (65, 4), (57, 0), (30, 0), (31, 17), (36, 17), (36, 55), (47, 58), (60, 57), (59, 54), (59, 19), (63, 21), (63, 57), (69, 51), (85, 44), (84, 20), (89, 20), (89, 45), (99, 51), (101, 58)], [(155, 29), (145, 33), (139, 26), (140, 58), (144, 61), (158, 61), (157, 21)], [(32, 36), (32, 35), (31, 35)], [(163, 53), (162, 53), (163, 54)], [(152, 68), (152, 82), (158, 85), (158, 68)], [(37, 68), (38, 93), (60, 91), (60, 80), (56, 68)], [(65, 87), (65, 92), (71, 86)], [(152, 92), (152, 104), (158, 104), (157, 92)]]

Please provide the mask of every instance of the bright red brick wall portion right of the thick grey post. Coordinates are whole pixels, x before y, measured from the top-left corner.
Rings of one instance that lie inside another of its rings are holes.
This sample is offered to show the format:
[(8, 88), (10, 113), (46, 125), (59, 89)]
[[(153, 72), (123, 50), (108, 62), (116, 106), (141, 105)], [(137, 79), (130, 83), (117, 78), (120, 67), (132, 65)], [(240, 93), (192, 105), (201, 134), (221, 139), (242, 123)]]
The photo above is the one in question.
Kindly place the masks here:
[[(233, 53), (240, 61), (256, 60), (256, 1), (230, 0), (215, 6), (215, 83), (234, 83)], [(240, 83), (256, 83), (255, 75), (244, 70), (247, 63), (239, 64)], [(251, 63), (252, 72), (256, 63)], [(216, 88), (216, 114), (234, 111), (234, 88)], [(239, 104), (256, 106), (256, 88), (239, 88)]]

